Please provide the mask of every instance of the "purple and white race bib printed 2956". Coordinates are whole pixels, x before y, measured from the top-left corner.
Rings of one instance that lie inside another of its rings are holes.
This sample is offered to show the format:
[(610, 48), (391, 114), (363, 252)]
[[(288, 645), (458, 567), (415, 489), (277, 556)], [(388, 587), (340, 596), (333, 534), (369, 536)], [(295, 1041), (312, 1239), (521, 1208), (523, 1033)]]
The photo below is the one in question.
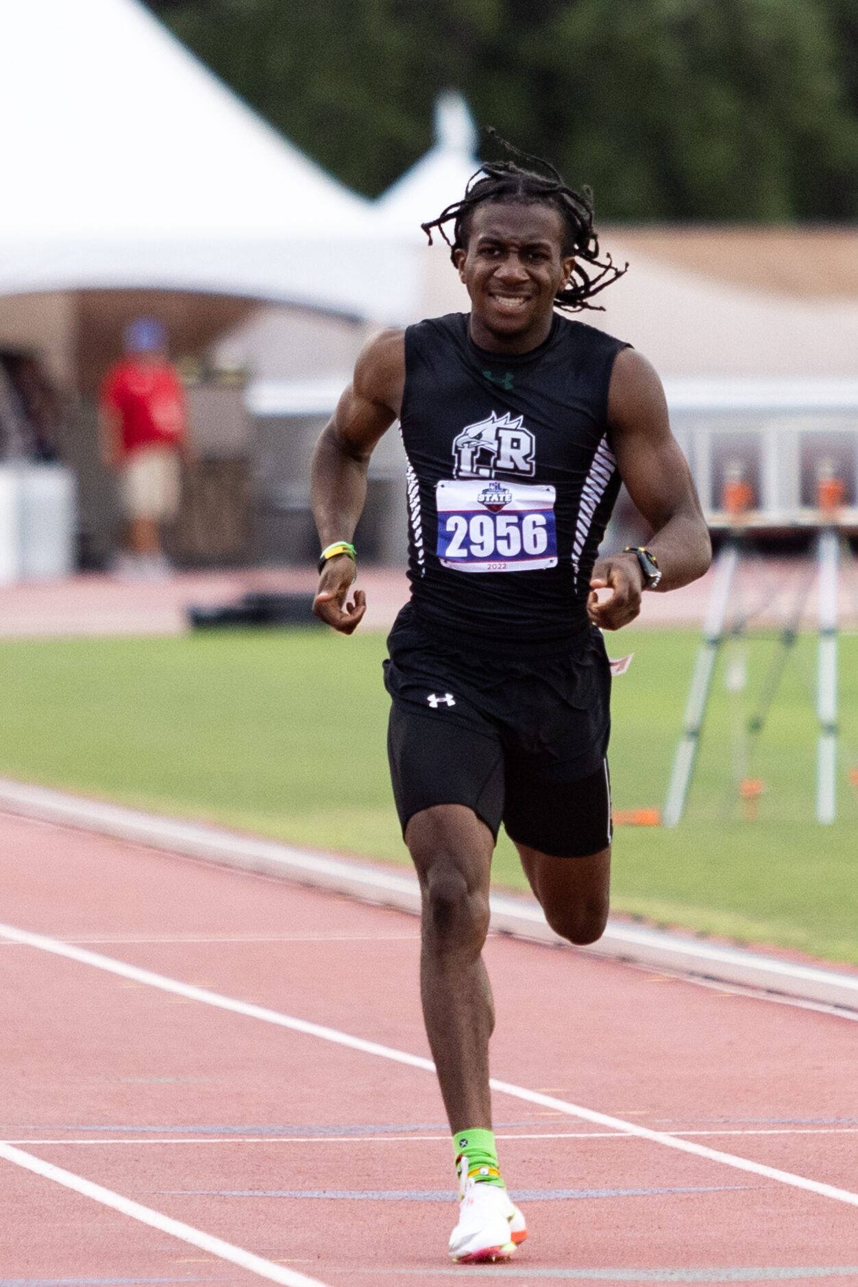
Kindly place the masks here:
[(459, 571), (557, 566), (553, 486), (480, 479), (436, 484), (437, 557)]

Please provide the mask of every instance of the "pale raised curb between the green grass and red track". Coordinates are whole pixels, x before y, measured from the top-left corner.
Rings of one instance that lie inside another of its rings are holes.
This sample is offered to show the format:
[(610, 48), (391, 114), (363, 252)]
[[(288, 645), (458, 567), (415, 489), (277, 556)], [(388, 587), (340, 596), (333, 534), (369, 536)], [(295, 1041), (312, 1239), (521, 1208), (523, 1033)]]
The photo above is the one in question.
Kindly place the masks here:
[[(280, 876), (400, 911), (419, 912), (421, 909), (417, 879), (410, 874), (399, 874), (358, 860), (296, 849), (278, 840), (255, 839), (215, 826), (141, 813), (118, 804), (68, 795), (44, 786), (28, 786), (9, 779), (0, 779), (0, 810), (244, 871)], [(493, 894), (491, 925), (495, 931), (520, 938), (562, 943), (547, 925), (542, 909), (530, 900)], [(579, 950), (858, 1012), (858, 974), (778, 960), (737, 947), (719, 947), (688, 934), (611, 920), (598, 943)]]

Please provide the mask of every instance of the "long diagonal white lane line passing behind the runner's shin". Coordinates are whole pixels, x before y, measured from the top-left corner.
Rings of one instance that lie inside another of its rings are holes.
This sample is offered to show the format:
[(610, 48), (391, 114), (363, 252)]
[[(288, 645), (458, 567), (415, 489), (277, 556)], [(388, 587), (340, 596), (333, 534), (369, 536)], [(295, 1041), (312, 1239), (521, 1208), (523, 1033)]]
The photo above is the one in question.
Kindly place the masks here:
[[(196, 987), (193, 983), (181, 983), (179, 979), (169, 978), (166, 974), (156, 974), (152, 970), (129, 965), (125, 961), (114, 960), (112, 956), (102, 956), (99, 952), (90, 952), (73, 943), (60, 943), (55, 938), (46, 938), (42, 934), (32, 934), (26, 929), (15, 929), (13, 925), (0, 923), (0, 936), (12, 938), (19, 943), (27, 943), (40, 951), (51, 952), (55, 956), (66, 956), (69, 960), (80, 961), (84, 965), (93, 965), (95, 969), (105, 970), (109, 974), (120, 974), (123, 978), (134, 979), (160, 988), (163, 992), (172, 992), (184, 996), (190, 1001), (201, 1001), (203, 1005), (212, 1005), (220, 1010), (229, 1010), (233, 1014), (242, 1014), (250, 1019), (260, 1019), (262, 1023), (273, 1023), (277, 1027), (289, 1028), (292, 1032), (302, 1032), (305, 1036), (318, 1037), (329, 1041), (332, 1045), (345, 1046), (349, 1050), (358, 1050), (360, 1054), (372, 1054), (379, 1059), (388, 1059), (392, 1063), (401, 1063), (410, 1068), (421, 1068), (424, 1072), (435, 1072), (431, 1059), (422, 1055), (409, 1054), (405, 1050), (396, 1050), (392, 1046), (381, 1045), (378, 1041), (367, 1041), (363, 1037), (351, 1036), (338, 1028), (329, 1028), (320, 1023), (310, 1023), (307, 1019), (298, 1019), (279, 1010), (270, 1010), (262, 1005), (253, 1005), (250, 1001), (238, 1001), (232, 996), (212, 992), (205, 987)], [(662, 1144), (665, 1148), (675, 1148), (682, 1153), (691, 1153), (702, 1157), (709, 1162), (720, 1162), (723, 1166), (732, 1166), (738, 1171), (749, 1171), (753, 1175), (762, 1175), (769, 1180), (777, 1180), (790, 1188), (804, 1189), (816, 1193), (818, 1197), (832, 1198), (835, 1202), (845, 1202), (858, 1207), (858, 1193), (849, 1189), (836, 1188), (834, 1184), (825, 1184), (821, 1180), (812, 1180), (804, 1175), (795, 1175), (792, 1171), (782, 1171), (774, 1166), (765, 1166), (762, 1162), (753, 1162), (733, 1153), (723, 1153), (719, 1149), (709, 1148), (706, 1144), (697, 1144), (691, 1139), (680, 1139), (677, 1135), (668, 1135), (665, 1131), (650, 1130), (637, 1122), (625, 1121), (621, 1117), (611, 1117), (608, 1113), (596, 1112), (593, 1108), (584, 1108), (572, 1104), (566, 1099), (556, 1099), (553, 1095), (543, 1095), (538, 1090), (526, 1090), (516, 1086), (511, 1081), (500, 1081), (493, 1077), (491, 1089), (512, 1099), (524, 1099), (525, 1103), (536, 1104), (540, 1108), (551, 1108), (553, 1112), (566, 1117), (578, 1117), (594, 1126), (606, 1126), (624, 1135), (635, 1135), (638, 1139), (647, 1139), (653, 1144)]]

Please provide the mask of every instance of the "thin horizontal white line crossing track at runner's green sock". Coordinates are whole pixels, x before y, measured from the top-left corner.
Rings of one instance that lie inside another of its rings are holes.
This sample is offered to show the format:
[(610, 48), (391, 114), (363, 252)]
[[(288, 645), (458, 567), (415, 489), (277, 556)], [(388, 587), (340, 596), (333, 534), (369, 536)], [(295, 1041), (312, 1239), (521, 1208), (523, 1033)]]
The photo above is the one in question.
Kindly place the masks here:
[[(665, 1131), (674, 1139), (697, 1139), (701, 1135), (858, 1135), (858, 1126), (828, 1126), (818, 1130), (671, 1130)], [(535, 1131), (534, 1134), (520, 1133), (517, 1135), (504, 1135), (502, 1131), (494, 1133), (495, 1139), (634, 1139), (625, 1133), (615, 1130), (561, 1130), (561, 1131)], [(149, 1144), (437, 1144), (449, 1139), (449, 1135), (206, 1135), (201, 1136), (165, 1136), (162, 1139), (148, 1139), (134, 1135), (122, 1139), (98, 1139), (91, 1135), (86, 1139), (5, 1139), (3, 1144), (86, 1144), (93, 1147), (108, 1147), (111, 1144), (141, 1145)], [(0, 1282), (1, 1287), (1, 1282)]]

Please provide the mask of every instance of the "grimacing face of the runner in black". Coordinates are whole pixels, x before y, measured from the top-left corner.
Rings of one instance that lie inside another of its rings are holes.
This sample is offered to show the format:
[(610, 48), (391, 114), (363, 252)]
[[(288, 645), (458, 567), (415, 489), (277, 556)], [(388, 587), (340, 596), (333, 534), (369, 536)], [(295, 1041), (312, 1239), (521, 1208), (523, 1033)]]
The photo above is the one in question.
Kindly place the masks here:
[(471, 296), (471, 337), (482, 349), (527, 353), (548, 336), (557, 291), (575, 259), (563, 255), (563, 218), (553, 206), (486, 202), (457, 251)]

